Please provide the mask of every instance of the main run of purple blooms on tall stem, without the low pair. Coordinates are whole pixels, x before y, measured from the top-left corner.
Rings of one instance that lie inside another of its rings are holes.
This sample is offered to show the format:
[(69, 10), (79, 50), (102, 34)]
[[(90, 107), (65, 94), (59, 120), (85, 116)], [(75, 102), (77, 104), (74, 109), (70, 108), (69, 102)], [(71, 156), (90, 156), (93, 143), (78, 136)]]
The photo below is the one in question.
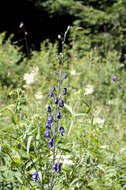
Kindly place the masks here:
[[(53, 98), (54, 105), (55, 105), (55, 113), (52, 114), (52, 107), (50, 105), (47, 106), (46, 111), (48, 113), (48, 121), (46, 122), (46, 131), (45, 131), (45, 138), (48, 140), (48, 148), (52, 148), (54, 146), (54, 141), (56, 140), (56, 123), (61, 119), (61, 109), (64, 107), (64, 100), (61, 98), (60, 95), (60, 87), (61, 87), (61, 80), (67, 78), (67, 74), (64, 73), (62, 78), (58, 81), (58, 89), (56, 90), (55, 86), (51, 86), (51, 90), (49, 91), (50, 98)], [(62, 95), (67, 94), (67, 88), (62, 89)], [(53, 133), (51, 133), (52, 125), (54, 126)], [(65, 129), (64, 126), (60, 126), (58, 128), (59, 137), (63, 136)]]

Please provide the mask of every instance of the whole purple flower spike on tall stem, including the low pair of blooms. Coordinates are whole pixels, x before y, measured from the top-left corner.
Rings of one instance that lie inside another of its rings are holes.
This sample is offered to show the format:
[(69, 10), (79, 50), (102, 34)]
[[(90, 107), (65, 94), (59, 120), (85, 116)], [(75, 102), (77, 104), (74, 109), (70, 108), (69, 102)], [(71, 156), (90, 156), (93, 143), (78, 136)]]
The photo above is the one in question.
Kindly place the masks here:
[[(67, 88), (62, 88), (63, 80), (67, 78), (67, 73), (62, 74), (59, 72), (58, 87), (51, 86), (49, 91), (49, 97), (53, 99), (53, 105), (46, 107), (47, 122), (45, 130), (45, 138), (48, 141), (48, 148), (52, 148), (55, 151), (55, 142), (59, 137), (64, 135), (64, 126), (60, 126), (60, 120), (62, 118), (62, 109), (64, 108), (63, 97), (67, 94)], [(55, 108), (54, 108), (55, 107)], [(55, 152), (54, 152), (55, 155)], [(53, 156), (53, 171), (60, 173), (61, 163), (55, 163), (55, 156)]]

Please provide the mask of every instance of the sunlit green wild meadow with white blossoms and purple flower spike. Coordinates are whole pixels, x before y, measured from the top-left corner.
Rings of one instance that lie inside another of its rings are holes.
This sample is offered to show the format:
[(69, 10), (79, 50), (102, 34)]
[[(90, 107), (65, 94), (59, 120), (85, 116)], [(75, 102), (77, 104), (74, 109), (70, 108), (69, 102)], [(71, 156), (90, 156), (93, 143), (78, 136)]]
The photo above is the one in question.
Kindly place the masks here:
[(3, 43), (4, 35), (0, 190), (125, 190), (126, 71), (120, 53), (86, 51), (86, 42), (78, 48), (71, 27), (55, 43), (43, 41), (29, 59), (10, 39)]

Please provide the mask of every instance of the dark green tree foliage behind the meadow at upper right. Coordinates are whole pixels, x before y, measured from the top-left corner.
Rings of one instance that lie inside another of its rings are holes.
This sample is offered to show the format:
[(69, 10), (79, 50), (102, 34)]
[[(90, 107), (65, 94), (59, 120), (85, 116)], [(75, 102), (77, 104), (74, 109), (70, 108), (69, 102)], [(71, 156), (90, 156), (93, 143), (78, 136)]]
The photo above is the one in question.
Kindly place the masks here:
[[(32, 0), (31, 0), (32, 2)], [(72, 31), (79, 50), (98, 47), (100, 53), (116, 50), (125, 53), (126, 39), (126, 2), (120, 0), (38, 0), (34, 3), (39, 9), (44, 9), (59, 23), (71, 17)], [(79, 31), (76, 32), (76, 29)], [(76, 34), (77, 33), (77, 34)], [(86, 43), (84, 48), (82, 43)], [(81, 52), (80, 52), (81, 55)]]

